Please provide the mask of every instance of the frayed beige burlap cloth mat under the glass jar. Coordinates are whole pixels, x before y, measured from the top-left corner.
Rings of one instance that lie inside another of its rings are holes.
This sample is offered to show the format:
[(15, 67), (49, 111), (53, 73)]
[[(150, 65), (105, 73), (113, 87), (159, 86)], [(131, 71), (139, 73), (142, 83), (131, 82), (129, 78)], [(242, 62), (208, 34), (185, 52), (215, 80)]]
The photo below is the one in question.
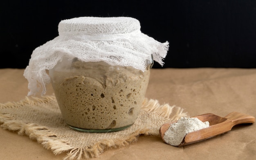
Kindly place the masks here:
[(119, 132), (86, 133), (68, 127), (58, 108), (55, 96), (26, 97), (19, 102), (0, 104), (0, 124), (37, 140), (54, 154), (67, 152), (64, 160), (93, 158), (104, 150), (135, 142), (140, 134), (159, 136), (164, 123), (188, 116), (181, 107), (160, 105), (144, 99), (134, 125)]

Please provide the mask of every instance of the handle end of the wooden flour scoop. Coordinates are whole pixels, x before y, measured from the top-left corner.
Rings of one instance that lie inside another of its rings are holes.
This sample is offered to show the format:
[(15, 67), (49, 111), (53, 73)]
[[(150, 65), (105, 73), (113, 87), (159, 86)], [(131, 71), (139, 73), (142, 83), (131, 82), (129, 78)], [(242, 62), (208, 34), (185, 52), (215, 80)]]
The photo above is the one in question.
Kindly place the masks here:
[(234, 125), (242, 124), (242, 123), (254, 123), (255, 117), (249, 116), (247, 114), (239, 113), (239, 112), (231, 112), (225, 118), (232, 121), (232, 127)]

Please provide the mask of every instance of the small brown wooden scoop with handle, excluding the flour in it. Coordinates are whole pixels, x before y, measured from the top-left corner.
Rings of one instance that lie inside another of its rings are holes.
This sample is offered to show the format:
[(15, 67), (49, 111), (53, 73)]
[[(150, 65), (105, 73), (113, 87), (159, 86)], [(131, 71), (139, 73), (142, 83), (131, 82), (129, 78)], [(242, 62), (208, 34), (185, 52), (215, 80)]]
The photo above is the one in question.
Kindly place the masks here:
[[(223, 134), (225, 132), (230, 131), (232, 127), (234, 127), (234, 125), (238, 125), (241, 123), (255, 122), (254, 116), (249, 116), (247, 114), (242, 114), (238, 112), (231, 112), (224, 118), (211, 113), (202, 114), (200, 116), (194, 116), (191, 118), (198, 118), (202, 122), (208, 121), (210, 123), (210, 126), (207, 128), (200, 129), (198, 131), (190, 132), (186, 134), (181, 144), (177, 145), (176, 147), (189, 145), (195, 142), (199, 142), (199, 141), (206, 140), (208, 138)], [(175, 123), (175, 122), (172, 122), (172, 123)], [(164, 133), (167, 131), (167, 129), (170, 127), (172, 123), (166, 123), (160, 127), (159, 133), (163, 140), (164, 140)]]

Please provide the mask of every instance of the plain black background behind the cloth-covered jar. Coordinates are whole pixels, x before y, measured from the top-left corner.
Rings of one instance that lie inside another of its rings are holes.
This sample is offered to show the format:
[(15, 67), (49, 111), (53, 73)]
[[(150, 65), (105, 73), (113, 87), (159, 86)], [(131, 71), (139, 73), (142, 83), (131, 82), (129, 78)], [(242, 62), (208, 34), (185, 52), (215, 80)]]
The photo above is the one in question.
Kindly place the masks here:
[(136, 18), (143, 33), (170, 42), (164, 68), (256, 68), (256, 0), (1, 2), (0, 68), (25, 68), (61, 20), (81, 16)]

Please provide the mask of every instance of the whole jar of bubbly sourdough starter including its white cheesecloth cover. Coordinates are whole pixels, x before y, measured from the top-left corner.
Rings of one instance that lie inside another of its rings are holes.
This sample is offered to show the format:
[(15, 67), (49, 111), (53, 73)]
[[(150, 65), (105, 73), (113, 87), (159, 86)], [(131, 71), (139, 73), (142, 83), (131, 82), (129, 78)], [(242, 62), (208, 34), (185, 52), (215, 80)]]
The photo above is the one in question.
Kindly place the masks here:
[[(28, 95), (52, 82), (64, 121), (82, 132), (111, 132), (135, 123), (153, 61), (164, 64), (169, 42), (141, 33), (130, 17), (61, 20), (59, 35), (38, 46), (24, 71)], [(46, 72), (49, 70), (49, 75)]]

